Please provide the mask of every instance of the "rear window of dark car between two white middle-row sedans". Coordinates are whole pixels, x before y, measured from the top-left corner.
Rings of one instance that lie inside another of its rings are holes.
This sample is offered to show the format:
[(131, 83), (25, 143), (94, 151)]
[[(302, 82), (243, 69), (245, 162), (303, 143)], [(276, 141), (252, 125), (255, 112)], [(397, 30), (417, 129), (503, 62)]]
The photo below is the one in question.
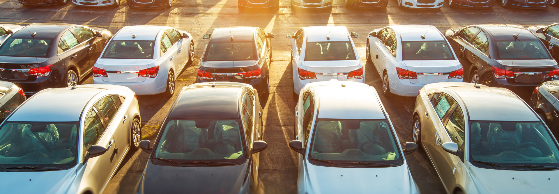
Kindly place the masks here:
[(215, 42), (207, 46), (204, 61), (256, 60), (254, 42)]

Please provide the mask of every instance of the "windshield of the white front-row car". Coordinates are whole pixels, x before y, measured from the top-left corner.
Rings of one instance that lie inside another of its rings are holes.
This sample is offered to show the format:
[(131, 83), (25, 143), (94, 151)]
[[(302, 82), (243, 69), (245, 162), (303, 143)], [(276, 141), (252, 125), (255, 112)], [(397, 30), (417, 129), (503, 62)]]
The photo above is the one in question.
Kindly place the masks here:
[[(402, 163), (396, 139), (387, 120), (319, 119), (311, 140), (309, 162), (328, 160), (334, 167), (395, 166)], [(318, 159), (318, 160), (313, 160)], [(358, 163), (371, 163), (363, 165)]]

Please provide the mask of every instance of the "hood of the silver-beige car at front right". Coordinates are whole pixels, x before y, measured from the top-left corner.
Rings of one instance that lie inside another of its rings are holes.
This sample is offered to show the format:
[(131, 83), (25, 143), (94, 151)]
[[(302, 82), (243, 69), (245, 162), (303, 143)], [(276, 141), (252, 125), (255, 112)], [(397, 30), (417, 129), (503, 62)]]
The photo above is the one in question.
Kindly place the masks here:
[(480, 193), (494, 194), (551, 192), (559, 179), (559, 171), (508, 171), (473, 165), (470, 175)]

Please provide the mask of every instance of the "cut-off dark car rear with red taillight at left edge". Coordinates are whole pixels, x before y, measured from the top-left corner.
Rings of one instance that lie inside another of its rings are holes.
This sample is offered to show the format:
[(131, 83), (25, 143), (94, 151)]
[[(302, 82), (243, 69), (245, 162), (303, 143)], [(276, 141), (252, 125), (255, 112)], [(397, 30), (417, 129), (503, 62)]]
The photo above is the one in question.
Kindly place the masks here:
[(11, 82), (0, 81), (0, 122), (25, 101), (23, 89)]

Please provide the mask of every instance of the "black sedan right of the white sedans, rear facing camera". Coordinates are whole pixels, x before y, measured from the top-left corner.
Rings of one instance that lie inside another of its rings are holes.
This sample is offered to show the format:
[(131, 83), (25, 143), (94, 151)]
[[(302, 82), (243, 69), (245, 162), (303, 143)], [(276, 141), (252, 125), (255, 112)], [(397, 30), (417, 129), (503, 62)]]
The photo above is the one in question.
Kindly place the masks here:
[(559, 78), (557, 62), (542, 42), (523, 26), (456, 27), (447, 30), (445, 36), (472, 83), (534, 87)]

